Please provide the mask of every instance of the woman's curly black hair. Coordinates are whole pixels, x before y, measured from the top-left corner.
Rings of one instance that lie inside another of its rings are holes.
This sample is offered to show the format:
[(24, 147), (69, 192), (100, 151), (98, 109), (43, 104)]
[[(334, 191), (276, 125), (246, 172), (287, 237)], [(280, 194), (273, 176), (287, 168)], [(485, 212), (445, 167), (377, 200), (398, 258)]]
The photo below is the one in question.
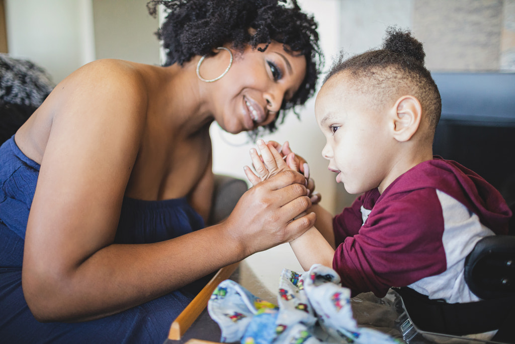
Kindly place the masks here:
[(295, 95), (283, 101), (276, 121), (267, 125), (270, 132), (278, 120), (284, 121), (284, 110), (303, 105), (314, 94), (323, 64), (317, 23), (296, 0), (152, 0), (147, 4), (151, 15), (157, 14), (158, 5), (168, 10), (156, 32), (167, 54), (165, 65), (182, 65), (227, 43), (243, 50), (276, 41), (286, 51), (305, 56), (306, 76)]

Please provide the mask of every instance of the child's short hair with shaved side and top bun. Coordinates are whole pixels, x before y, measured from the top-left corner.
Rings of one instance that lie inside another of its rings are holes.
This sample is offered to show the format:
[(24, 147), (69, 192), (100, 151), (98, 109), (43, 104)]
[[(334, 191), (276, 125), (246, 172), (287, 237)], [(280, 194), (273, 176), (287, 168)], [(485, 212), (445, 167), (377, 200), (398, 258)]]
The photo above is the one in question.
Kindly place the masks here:
[(373, 95), (376, 101), (372, 105), (376, 106), (397, 100), (402, 95), (413, 95), (419, 100), (423, 117), (434, 133), (440, 119), (441, 99), (430, 71), (424, 66), (422, 43), (408, 30), (388, 27), (386, 34), (379, 50), (349, 59), (340, 54), (323, 82), (346, 71), (354, 79), (353, 87)]

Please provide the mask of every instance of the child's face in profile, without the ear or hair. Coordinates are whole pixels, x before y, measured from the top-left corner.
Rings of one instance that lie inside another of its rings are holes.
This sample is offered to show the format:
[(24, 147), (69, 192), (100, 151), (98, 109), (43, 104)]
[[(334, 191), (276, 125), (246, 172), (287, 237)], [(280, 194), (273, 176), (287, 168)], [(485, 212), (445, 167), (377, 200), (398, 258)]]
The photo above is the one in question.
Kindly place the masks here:
[[(317, 123), (327, 143), (322, 155), (351, 194), (379, 187), (393, 169), (394, 139), (385, 111), (372, 107), (373, 96), (356, 92), (346, 72), (331, 77), (315, 103)], [(392, 165), (393, 164), (393, 165)]]

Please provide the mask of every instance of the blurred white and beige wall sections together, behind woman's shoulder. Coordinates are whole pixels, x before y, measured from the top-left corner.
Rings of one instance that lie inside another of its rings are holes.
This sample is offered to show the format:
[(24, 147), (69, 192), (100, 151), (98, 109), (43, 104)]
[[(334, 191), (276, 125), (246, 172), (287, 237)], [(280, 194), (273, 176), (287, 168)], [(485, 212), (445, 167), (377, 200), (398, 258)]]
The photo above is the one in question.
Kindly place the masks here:
[(159, 64), (147, 2), (5, 0), (9, 54), (41, 65), (56, 84), (98, 58)]

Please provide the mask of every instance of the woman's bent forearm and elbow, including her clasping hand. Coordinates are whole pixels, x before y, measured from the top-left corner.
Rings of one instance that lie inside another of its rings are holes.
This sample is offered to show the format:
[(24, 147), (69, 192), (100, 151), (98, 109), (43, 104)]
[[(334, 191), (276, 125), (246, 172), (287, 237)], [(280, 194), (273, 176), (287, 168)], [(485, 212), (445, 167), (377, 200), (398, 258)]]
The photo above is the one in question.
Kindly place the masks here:
[(315, 223), (312, 213), (291, 221), (310, 206), (299, 182), (303, 176), (293, 171), (278, 174), (247, 191), (227, 220), (152, 244), (111, 244), (105, 235), (100, 245), (92, 235), (98, 230), (82, 222), (52, 232), (33, 221), (22, 269), (27, 304), (40, 321), (100, 318), (289, 242)]

